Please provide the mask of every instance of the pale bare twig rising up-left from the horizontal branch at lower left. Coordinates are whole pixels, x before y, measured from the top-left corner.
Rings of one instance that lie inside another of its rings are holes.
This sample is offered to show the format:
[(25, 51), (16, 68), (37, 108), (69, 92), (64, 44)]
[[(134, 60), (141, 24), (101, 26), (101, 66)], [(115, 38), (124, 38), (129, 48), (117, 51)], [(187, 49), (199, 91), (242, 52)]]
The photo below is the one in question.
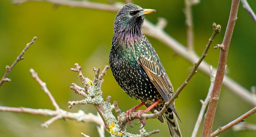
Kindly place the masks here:
[(52, 96), (51, 92), (48, 90), (48, 88), (46, 87), (46, 83), (43, 82), (37, 75), (37, 72), (35, 72), (35, 70), (33, 70), (33, 68), (30, 68), (30, 73), (32, 75), (32, 78), (34, 78), (37, 83), (41, 86), (41, 89), (47, 94), (47, 96), (50, 98), (50, 101), (52, 102), (52, 105), (55, 107), (55, 109), (57, 111), (60, 110), (59, 105), (56, 103), (54, 97)]

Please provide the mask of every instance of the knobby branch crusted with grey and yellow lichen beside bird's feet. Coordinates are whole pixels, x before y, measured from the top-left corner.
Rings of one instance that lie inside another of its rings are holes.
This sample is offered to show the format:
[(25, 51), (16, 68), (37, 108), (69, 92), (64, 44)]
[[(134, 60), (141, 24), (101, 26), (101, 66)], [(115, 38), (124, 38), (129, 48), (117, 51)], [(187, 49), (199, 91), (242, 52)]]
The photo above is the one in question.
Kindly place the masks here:
[[(76, 63), (76, 66), (78, 64)], [(78, 68), (81, 67), (79, 66)], [(104, 121), (104, 126), (106, 129), (109, 130), (109, 133), (111, 134), (112, 137), (148, 137), (154, 133), (158, 133), (159, 130), (154, 130), (152, 132), (146, 132), (144, 129), (142, 129), (140, 134), (132, 134), (126, 132), (126, 123), (127, 121), (125, 120), (125, 113), (121, 112), (121, 110), (117, 106), (117, 102), (114, 101), (114, 107), (115, 111), (117, 112), (118, 119), (115, 118), (115, 116), (112, 113), (112, 107), (111, 107), (111, 96), (108, 96), (106, 101), (103, 100), (102, 98), (102, 91), (100, 89), (100, 83), (103, 78), (103, 76), (106, 75), (106, 71), (108, 70), (109, 66), (106, 65), (104, 70), (100, 73), (100, 68), (93, 68), (95, 71), (95, 78), (93, 81), (91, 81), (88, 78), (84, 78), (84, 87), (79, 87), (75, 83), (72, 83), (74, 88), (75, 93), (83, 95), (81, 92), (84, 92), (83, 90), (78, 90), (83, 89), (87, 87), (85, 96), (85, 99), (81, 101), (69, 101), (69, 108), (72, 108), (74, 105), (77, 104), (92, 104), (95, 106), (97, 112), (100, 114), (100, 117)], [(72, 68), (71, 70), (74, 70)], [(82, 73), (81, 73), (82, 74)], [(79, 74), (80, 75), (80, 74)], [(98, 128), (100, 130), (100, 128)], [(100, 131), (99, 131), (100, 132)]]

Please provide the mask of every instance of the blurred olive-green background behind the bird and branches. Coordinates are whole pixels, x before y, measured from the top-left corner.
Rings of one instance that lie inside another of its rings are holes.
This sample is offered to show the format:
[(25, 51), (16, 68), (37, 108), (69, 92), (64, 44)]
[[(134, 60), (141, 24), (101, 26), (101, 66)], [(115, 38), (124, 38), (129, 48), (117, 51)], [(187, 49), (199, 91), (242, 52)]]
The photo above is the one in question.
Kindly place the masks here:
[[(107, 3), (106, 0), (96, 2)], [(256, 1), (248, 0), (256, 11)], [(157, 23), (158, 17), (168, 21), (165, 31), (183, 45), (186, 45), (186, 25), (183, 0), (134, 0), (134, 3), (143, 8), (156, 9), (156, 13), (147, 15), (150, 22)], [(208, 39), (212, 34), (213, 22), (222, 26), (217, 34), (205, 60), (217, 67), (219, 49), (213, 49), (221, 44), (228, 22), (231, 0), (202, 0), (193, 6), (195, 49), (202, 54)], [(81, 85), (78, 74), (70, 71), (74, 63), (82, 66), (85, 77), (93, 79), (93, 67), (104, 68), (109, 65), (108, 56), (113, 36), (113, 21), (117, 12), (98, 11), (85, 8), (72, 8), (63, 5), (54, 5), (48, 2), (26, 2), (13, 5), (11, 0), (0, 1), (0, 77), (4, 75), (6, 65), (11, 65), (20, 52), (37, 36), (36, 42), (24, 54), (11, 71), (6, 82), (0, 88), (0, 105), (11, 107), (47, 108), (54, 109), (46, 94), (32, 79), (29, 69), (33, 68), (39, 77), (47, 83), (48, 89), (55, 97), (59, 106), (69, 112), (83, 110), (85, 113), (96, 114), (92, 105), (77, 105), (68, 109), (68, 101), (83, 99), (74, 94), (69, 88), (71, 83)], [(250, 89), (256, 84), (256, 24), (249, 14), (239, 5), (238, 20), (230, 43), (227, 65), (228, 76), (243, 87)], [(174, 89), (187, 78), (193, 66), (182, 56), (160, 41), (148, 36), (148, 39), (158, 52)], [(102, 85), (103, 97), (112, 96), (111, 102), (118, 101), (123, 112), (137, 105), (139, 101), (130, 99), (117, 85), (111, 70), (104, 77)], [(182, 120), (180, 130), (183, 137), (191, 136), (199, 110), (200, 99), (205, 99), (210, 78), (200, 72), (193, 76), (187, 87), (184, 88), (175, 105)], [(217, 107), (213, 130), (236, 119), (254, 106), (246, 103), (225, 87)], [(144, 108), (143, 108), (144, 109)], [(115, 114), (115, 113), (114, 113)], [(98, 137), (95, 124), (77, 123), (72, 120), (58, 120), (49, 128), (41, 128), (40, 124), (50, 119), (39, 115), (15, 114), (0, 112), (0, 137), (80, 137), (83, 132), (91, 137)], [(256, 123), (256, 114), (245, 121)], [(135, 128), (128, 126), (128, 131), (139, 133)], [(160, 133), (152, 137), (169, 136), (166, 123), (161, 124), (157, 119), (148, 119), (145, 129), (149, 132), (159, 129)], [(202, 124), (197, 137), (202, 135)], [(234, 132), (229, 129), (219, 137), (252, 137), (254, 131)], [(109, 133), (106, 133), (106, 137)]]

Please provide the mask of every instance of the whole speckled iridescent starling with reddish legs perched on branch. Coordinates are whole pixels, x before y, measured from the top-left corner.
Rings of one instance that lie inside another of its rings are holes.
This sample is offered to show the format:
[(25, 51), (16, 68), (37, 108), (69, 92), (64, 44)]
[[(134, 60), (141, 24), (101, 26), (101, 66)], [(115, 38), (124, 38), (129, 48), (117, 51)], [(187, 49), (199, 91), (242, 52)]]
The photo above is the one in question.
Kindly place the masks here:
[[(150, 41), (142, 33), (145, 15), (154, 13), (154, 9), (143, 9), (139, 5), (125, 4), (114, 20), (114, 36), (111, 41), (109, 66), (118, 85), (129, 97), (141, 103), (126, 112), (130, 126), (130, 117), (140, 106), (138, 115), (154, 110), (160, 111), (164, 103), (174, 95), (169, 77)], [(163, 115), (167, 121), (171, 137), (182, 137), (177, 118), (180, 120), (174, 102)], [(139, 117), (139, 116), (138, 116)], [(163, 117), (158, 119), (164, 123)], [(139, 121), (145, 125), (145, 119)]]

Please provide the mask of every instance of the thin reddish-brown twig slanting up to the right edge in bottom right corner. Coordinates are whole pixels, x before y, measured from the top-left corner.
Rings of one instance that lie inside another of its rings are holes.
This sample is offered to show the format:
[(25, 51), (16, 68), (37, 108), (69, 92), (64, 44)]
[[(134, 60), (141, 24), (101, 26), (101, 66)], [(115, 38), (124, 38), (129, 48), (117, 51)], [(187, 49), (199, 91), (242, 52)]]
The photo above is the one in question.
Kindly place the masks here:
[(223, 126), (223, 127), (220, 126), (219, 129), (217, 129), (215, 132), (213, 132), (211, 134), (211, 137), (215, 137), (215, 136), (219, 135), (221, 132), (227, 130), (228, 128), (231, 128), (232, 126), (234, 126), (237, 123), (240, 123), (245, 118), (249, 117), (250, 115), (252, 115), (255, 112), (256, 112), (256, 107), (252, 108), (250, 111), (246, 112), (245, 114), (241, 115), (241, 117), (238, 117), (237, 119), (226, 124), (225, 126)]

